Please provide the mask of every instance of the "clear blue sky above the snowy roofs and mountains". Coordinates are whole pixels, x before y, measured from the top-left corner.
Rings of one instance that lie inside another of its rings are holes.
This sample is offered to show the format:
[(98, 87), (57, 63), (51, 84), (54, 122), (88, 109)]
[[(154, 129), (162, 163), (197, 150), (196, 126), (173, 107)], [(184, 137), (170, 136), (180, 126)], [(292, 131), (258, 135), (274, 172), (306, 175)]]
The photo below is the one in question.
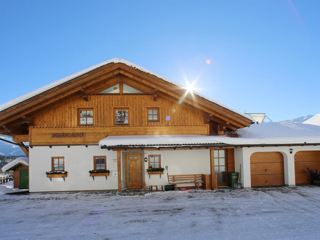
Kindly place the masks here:
[(0, 104), (119, 57), (273, 121), (320, 113), (319, 0), (0, 0), (0, 34)]

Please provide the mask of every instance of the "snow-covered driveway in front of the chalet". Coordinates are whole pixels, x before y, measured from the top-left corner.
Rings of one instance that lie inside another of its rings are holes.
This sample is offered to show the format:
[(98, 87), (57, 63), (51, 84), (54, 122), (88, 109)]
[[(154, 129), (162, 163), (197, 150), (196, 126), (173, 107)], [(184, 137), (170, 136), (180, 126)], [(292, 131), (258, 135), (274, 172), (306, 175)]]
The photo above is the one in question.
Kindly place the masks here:
[(0, 195), (2, 239), (319, 239), (316, 186)]

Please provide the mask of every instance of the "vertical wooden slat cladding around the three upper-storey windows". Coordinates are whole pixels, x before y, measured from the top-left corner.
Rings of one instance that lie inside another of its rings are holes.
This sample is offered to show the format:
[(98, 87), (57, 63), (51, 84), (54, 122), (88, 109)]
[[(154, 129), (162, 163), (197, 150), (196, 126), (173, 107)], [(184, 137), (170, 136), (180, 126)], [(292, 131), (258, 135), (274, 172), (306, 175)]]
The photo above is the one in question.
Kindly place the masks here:
[[(205, 126), (204, 116), (163, 97), (153, 100), (152, 95), (90, 95), (88, 101), (82, 97), (71, 100), (35, 117), (35, 128), (70, 128), (78, 126), (77, 108), (95, 108), (96, 127), (113, 126), (112, 107), (130, 107), (131, 126)], [(147, 122), (146, 107), (160, 106), (160, 122)], [(170, 120), (165, 120), (170, 116)]]

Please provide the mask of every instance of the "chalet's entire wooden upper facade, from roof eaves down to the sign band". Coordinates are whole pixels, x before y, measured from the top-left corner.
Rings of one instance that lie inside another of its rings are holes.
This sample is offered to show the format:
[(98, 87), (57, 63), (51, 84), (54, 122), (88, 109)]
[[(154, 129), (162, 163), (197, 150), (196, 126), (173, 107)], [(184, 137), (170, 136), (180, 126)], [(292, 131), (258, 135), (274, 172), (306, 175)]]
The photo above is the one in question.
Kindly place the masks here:
[[(140, 93), (100, 94), (114, 84)], [(93, 109), (92, 125), (79, 125), (80, 108)], [(128, 125), (115, 124), (115, 108), (129, 109)], [(148, 121), (148, 108), (159, 109), (159, 121)], [(124, 63), (108, 63), (0, 111), (0, 133), (30, 145), (92, 144), (106, 135), (223, 134), (250, 124), (237, 112)], [(77, 132), (86, 137), (51, 137)]]

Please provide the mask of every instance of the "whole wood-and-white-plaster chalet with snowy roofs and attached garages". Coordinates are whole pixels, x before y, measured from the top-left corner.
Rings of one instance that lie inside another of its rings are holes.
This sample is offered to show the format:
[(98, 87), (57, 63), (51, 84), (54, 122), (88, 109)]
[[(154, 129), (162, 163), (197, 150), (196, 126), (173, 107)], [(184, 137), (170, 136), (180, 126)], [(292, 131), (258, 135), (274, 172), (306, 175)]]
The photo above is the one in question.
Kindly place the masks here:
[(30, 192), (168, 185), (167, 173), (227, 185), (240, 169), (243, 188), (310, 183), (320, 127), (252, 116), (111, 59), (1, 105), (0, 134), (28, 156)]

